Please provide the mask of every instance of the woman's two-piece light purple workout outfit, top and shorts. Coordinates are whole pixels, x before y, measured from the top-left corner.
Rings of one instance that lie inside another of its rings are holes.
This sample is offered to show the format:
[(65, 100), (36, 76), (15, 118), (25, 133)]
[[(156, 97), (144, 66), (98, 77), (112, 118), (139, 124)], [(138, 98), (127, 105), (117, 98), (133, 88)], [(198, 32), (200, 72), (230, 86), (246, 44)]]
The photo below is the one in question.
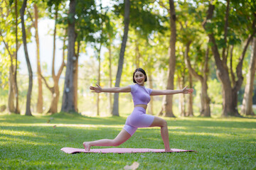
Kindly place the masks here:
[[(139, 86), (139, 84), (130, 85), (132, 100), (134, 101), (134, 106), (139, 104), (147, 105), (150, 101), (150, 94), (152, 89), (147, 89), (144, 86)], [(154, 115), (146, 115), (146, 110), (142, 107), (135, 107), (132, 114), (128, 116), (126, 123), (124, 125), (124, 130), (126, 130), (129, 135), (134, 135), (137, 128), (149, 127), (154, 121)]]

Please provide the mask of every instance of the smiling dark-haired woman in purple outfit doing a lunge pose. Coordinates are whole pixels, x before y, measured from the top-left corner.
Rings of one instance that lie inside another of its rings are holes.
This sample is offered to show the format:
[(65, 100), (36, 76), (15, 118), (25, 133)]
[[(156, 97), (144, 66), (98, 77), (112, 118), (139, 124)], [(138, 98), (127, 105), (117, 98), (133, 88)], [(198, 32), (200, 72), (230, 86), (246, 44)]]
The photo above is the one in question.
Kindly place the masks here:
[(166, 120), (158, 118), (154, 115), (146, 114), (146, 106), (150, 101), (150, 96), (156, 95), (169, 95), (169, 94), (191, 94), (193, 89), (182, 90), (152, 90), (147, 89), (144, 86), (144, 82), (147, 81), (146, 72), (144, 69), (135, 69), (133, 74), (134, 85), (125, 87), (113, 87), (109, 89), (102, 89), (99, 85), (90, 86), (90, 90), (95, 93), (107, 92), (107, 93), (128, 93), (131, 92), (132, 100), (134, 101), (134, 111), (128, 116), (124, 128), (114, 138), (114, 140), (95, 140), (92, 142), (83, 142), (83, 146), (86, 151), (90, 150), (92, 146), (119, 146), (125, 141), (129, 140), (134, 134), (137, 128), (146, 127), (161, 127), (161, 137), (164, 141), (165, 151), (171, 151), (169, 146), (169, 134)]

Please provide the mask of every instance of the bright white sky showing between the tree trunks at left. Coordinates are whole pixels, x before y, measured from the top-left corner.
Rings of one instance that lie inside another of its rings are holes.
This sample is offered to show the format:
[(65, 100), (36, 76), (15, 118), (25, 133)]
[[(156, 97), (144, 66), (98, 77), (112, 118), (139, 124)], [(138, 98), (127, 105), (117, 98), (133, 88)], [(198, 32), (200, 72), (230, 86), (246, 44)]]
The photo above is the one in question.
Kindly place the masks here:
[[(43, 18), (41, 21), (38, 22), (38, 35), (39, 35), (39, 47), (40, 47), (40, 61), (41, 65), (47, 64), (47, 72), (43, 73), (44, 75), (51, 74), (51, 66), (53, 60), (53, 28), (54, 28), (54, 21), (48, 18)], [(29, 42), (28, 47), (28, 57), (31, 62), (31, 67), (33, 73), (37, 71), (36, 65), (36, 40), (35, 40), (35, 29), (31, 29), (32, 33), (32, 42)], [(56, 51), (55, 51), (55, 72), (58, 72), (60, 64), (62, 62), (62, 48), (63, 42), (58, 39), (56, 40)], [(82, 54), (84, 55), (84, 54)], [(85, 56), (80, 57), (81, 60), (84, 60)], [(21, 62), (20, 64), (20, 72), (21, 74), (28, 74), (28, 67), (26, 64), (26, 58), (24, 54), (24, 47), (21, 45), (20, 49), (18, 50), (18, 61)], [(42, 69), (42, 67), (41, 67)]]

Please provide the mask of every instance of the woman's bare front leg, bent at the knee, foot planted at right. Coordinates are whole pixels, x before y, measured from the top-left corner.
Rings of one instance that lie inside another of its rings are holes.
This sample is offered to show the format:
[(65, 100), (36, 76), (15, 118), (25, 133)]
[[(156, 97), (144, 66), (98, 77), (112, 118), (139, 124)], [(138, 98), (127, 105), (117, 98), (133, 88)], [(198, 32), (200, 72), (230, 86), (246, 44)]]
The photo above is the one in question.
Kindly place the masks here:
[(154, 121), (150, 127), (161, 127), (161, 137), (164, 141), (165, 151), (171, 151), (169, 144), (169, 133), (166, 120), (154, 116)]

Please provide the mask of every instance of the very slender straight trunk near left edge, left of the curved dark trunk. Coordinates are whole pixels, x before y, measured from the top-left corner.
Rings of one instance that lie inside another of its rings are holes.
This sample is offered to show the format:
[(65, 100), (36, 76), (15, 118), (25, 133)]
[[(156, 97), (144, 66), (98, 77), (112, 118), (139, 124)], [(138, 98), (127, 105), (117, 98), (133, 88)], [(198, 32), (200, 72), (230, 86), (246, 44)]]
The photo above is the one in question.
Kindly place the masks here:
[(15, 51), (15, 68), (14, 68), (14, 88), (15, 88), (15, 98), (16, 107), (15, 113), (20, 114), (21, 111), (18, 106), (18, 84), (17, 84), (17, 69), (18, 69), (18, 0), (15, 0), (15, 37), (16, 37), (16, 51)]

